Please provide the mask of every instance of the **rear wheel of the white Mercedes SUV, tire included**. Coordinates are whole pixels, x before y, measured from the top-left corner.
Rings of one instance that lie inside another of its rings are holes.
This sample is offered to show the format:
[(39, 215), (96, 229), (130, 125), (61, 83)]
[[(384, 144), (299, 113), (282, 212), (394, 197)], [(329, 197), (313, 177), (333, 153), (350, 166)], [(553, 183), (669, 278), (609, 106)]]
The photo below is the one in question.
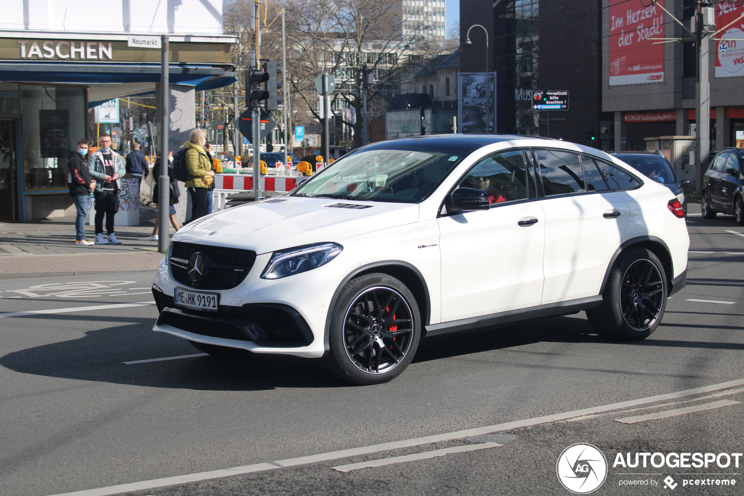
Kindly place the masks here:
[(635, 248), (612, 267), (603, 302), (586, 311), (594, 330), (620, 341), (648, 338), (667, 306), (667, 276), (652, 251)]

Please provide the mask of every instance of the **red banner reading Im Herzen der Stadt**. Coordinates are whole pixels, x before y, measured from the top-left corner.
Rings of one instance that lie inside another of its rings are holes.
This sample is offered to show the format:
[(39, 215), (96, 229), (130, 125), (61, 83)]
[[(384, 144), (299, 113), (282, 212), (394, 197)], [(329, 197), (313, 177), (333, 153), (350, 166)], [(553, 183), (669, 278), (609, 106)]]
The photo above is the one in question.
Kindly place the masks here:
[(610, 0), (610, 86), (664, 81), (664, 45), (654, 45), (664, 37), (664, 10), (657, 4), (664, 0)]

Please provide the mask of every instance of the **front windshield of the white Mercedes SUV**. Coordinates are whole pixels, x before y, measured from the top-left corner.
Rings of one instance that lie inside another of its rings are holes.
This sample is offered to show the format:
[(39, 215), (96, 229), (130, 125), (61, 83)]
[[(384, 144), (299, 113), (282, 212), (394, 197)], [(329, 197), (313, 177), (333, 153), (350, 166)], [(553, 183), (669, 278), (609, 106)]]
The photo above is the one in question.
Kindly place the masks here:
[(362, 149), (321, 170), (292, 195), (416, 203), (466, 155), (443, 149)]

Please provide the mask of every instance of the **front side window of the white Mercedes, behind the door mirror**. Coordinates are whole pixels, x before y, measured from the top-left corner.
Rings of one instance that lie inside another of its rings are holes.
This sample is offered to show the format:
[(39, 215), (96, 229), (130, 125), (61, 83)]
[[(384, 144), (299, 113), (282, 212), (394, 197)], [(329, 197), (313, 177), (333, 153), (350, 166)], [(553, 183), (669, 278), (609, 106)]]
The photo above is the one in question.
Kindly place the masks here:
[(460, 181), (460, 187), (485, 191), (491, 203), (527, 199), (527, 165), (522, 150), (503, 152), (481, 161)]

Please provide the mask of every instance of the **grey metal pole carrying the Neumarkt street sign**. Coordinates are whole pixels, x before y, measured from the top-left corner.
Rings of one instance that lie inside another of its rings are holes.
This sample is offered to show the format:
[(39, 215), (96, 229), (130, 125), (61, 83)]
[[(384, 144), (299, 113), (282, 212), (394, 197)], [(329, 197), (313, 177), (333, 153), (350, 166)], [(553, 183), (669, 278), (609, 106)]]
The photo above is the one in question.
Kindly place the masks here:
[(160, 199), (158, 199), (158, 251), (165, 253), (170, 240), (168, 228), (168, 210), (170, 210), (170, 178), (168, 177), (168, 97), (170, 87), (168, 81), (168, 35), (162, 35), (161, 67), (160, 67), (160, 105), (163, 115), (160, 120)]

